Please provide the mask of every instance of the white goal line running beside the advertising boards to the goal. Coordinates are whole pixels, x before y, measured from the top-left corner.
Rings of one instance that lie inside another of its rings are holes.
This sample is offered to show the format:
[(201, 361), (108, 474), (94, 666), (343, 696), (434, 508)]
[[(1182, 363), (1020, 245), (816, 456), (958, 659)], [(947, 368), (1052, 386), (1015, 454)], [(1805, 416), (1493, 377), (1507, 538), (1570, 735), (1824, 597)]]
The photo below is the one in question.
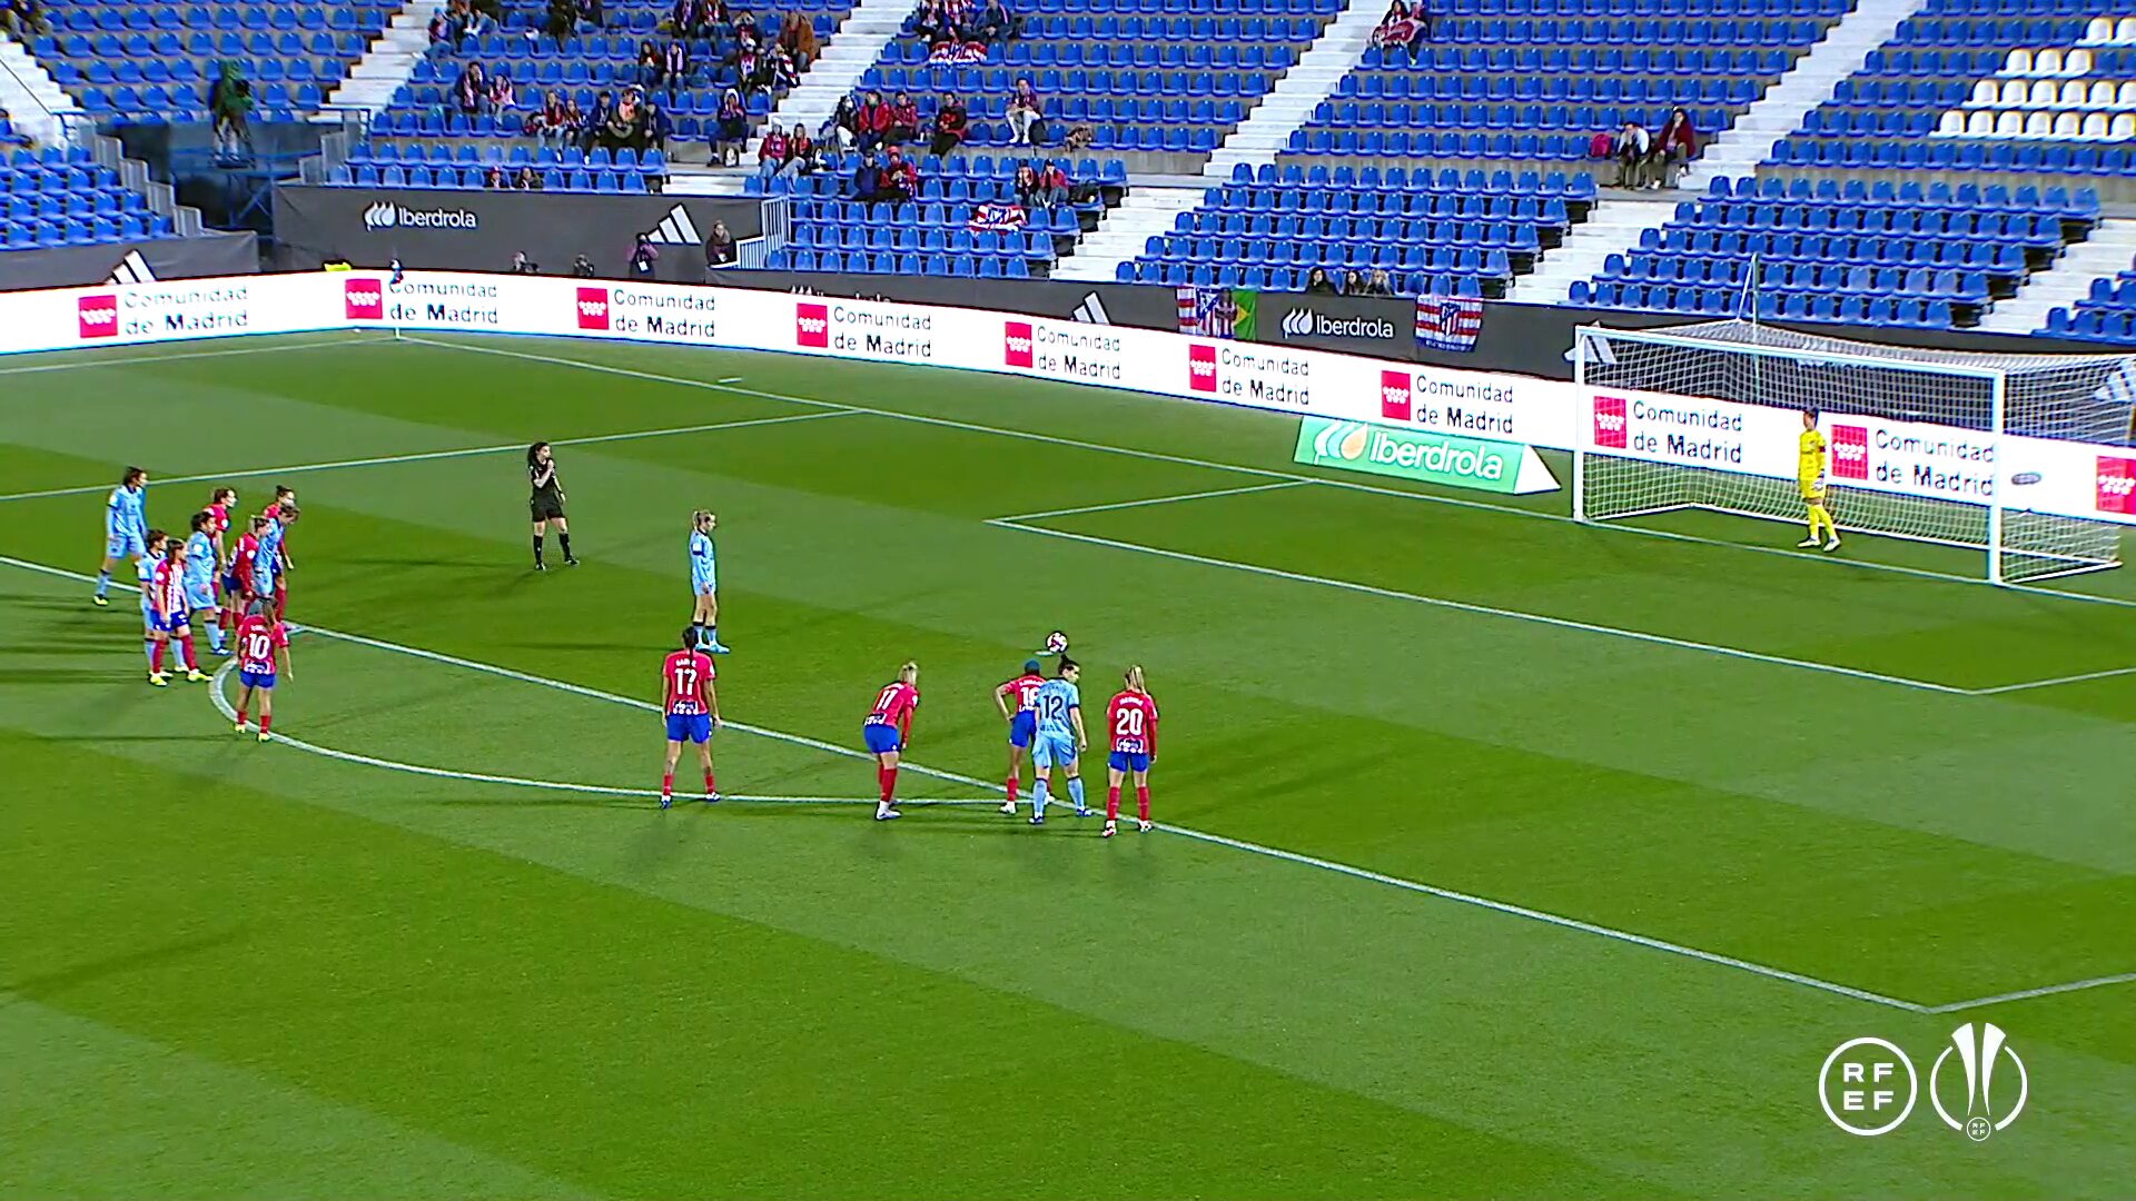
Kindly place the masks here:
[[(466, 342), (438, 342), (434, 338), (402, 338), (402, 342), (417, 342), (421, 346), (436, 346), (436, 348), (442, 348), (442, 350), (464, 350), (468, 355), (498, 355), (498, 357), (506, 357), (506, 359), (525, 359), (530, 363), (549, 363), (549, 365), (555, 365), (555, 368), (577, 368), (581, 372), (602, 372), (602, 374), (611, 374), (611, 376), (626, 376), (626, 378), (639, 378), (639, 380), (651, 380), (651, 383), (664, 383), (664, 385), (677, 385), (677, 387), (696, 387), (696, 389), (711, 389), (711, 391), (733, 391), (733, 393), (741, 393), (741, 395), (754, 395), (754, 397), (760, 397), (760, 400), (786, 400), (786, 402), (792, 402), (792, 404), (837, 406), (837, 402), (816, 400), (816, 397), (807, 397), (807, 395), (792, 395), (792, 393), (782, 393), (782, 391), (728, 387), (726, 380), (694, 380), (694, 378), (686, 378), (686, 376), (664, 376), (664, 374), (658, 374), (658, 372), (639, 372), (634, 368), (615, 368), (615, 365), (609, 365), (609, 363), (587, 363), (583, 359), (566, 359), (562, 355), (534, 355), (530, 350), (511, 350), (511, 348), (504, 348), (504, 346), (472, 346), (472, 344), (466, 344)], [(1952, 575), (1948, 571), (1929, 571), (1929, 568), (1920, 568), (1920, 566), (1903, 566), (1903, 564), (1892, 564), (1892, 562), (1873, 562), (1873, 560), (1854, 560), (1854, 558), (1831, 558), (1831, 556), (1822, 556), (1822, 553), (1803, 553), (1803, 551), (1784, 549), (1784, 547), (1760, 547), (1760, 545), (1754, 545), (1754, 543), (1730, 543), (1726, 539), (1702, 539), (1698, 534), (1679, 534), (1675, 530), (1651, 530), (1651, 528), (1645, 528), (1645, 526), (1630, 526), (1630, 524), (1615, 524), (1615, 521), (1608, 521), (1608, 524), (1581, 521), (1581, 519), (1576, 519), (1576, 517), (1572, 517), (1568, 513), (1544, 513), (1540, 509), (1521, 509), (1517, 504), (1493, 504), (1489, 500), (1470, 500), (1465, 496), (1440, 496), (1440, 494), (1433, 494), (1433, 492), (1405, 492), (1405, 489), (1399, 489), (1399, 487), (1376, 487), (1376, 485), (1358, 483), (1358, 481), (1350, 481), (1350, 479), (1326, 479), (1326, 477), (1299, 474), (1299, 472), (1271, 470), (1271, 468), (1250, 468), (1250, 466), (1243, 466), (1243, 464), (1218, 464), (1218, 462), (1211, 462), (1211, 459), (1196, 459), (1192, 455), (1166, 455), (1162, 451), (1143, 451), (1143, 449), (1136, 449), (1136, 447), (1113, 447), (1113, 444), (1106, 444), (1106, 442), (1085, 442), (1081, 438), (1062, 438), (1062, 436), (1055, 436), (1055, 434), (1038, 434), (1034, 430), (1008, 430), (1008, 427), (1000, 427), (1000, 425), (980, 425), (976, 421), (955, 421), (955, 419), (948, 419), (948, 417), (925, 417), (925, 415), (918, 415), (918, 412), (897, 412), (893, 408), (869, 408), (869, 406), (852, 406), (852, 408), (859, 408), (861, 412), (869, 412), (874, 417), (886, 417), (886, 419), (893, 419), (893, 421), (916, 421), (921, 425), (940, 425), (944, 430), (968, 430), (972, 434), (993, 434), (998, 438), (1023, 438), (1027, 442), (1045, 442), (1049, 447), (1072, 447), (1072, 449), (1079, 449), (1079, 451), (1098, 451), (1098, 453), (1106, 453), (1106, 455), (1128, 455), (1128, 457), (1134, 457), (1134, 459), (1153, 459), (1153, 462), (1160, 462), (1160, 464), (1181, 464), (1181, 466), (1192, 466), (1192, 468), (1226, 470), (1226, 472), (1239, 472), (1239, 474), (1258, 474), (1258, 477), (1265, 477), (1265, 479), (1288, 479), (1288, 481), (1297, 481), (1297, 483), (1318, 483), (1322, 487), (1339, 487), (1344, 492), (1365, 492), (1365, 494), (1371, 494), (1371, 496), (1397, 496), (1401, 500), (1427, 500), (1431, 504), (1452, 504), (1457, 509), (1485, 509), (1489, 513), (1510, 513), (1514, 517), (1536, 517), (1536, 519), (1542, 519), (1542, 521), (1566, 521), (1566, 524), (1572, 524), (1572, 526), (1606, 528), (1606, 530), (1617, 530), (1617, 532), (1628, 532), (1628, 534), (1645, 534), (1649, 539), (1666, 539), (1666, 541), (1672, 541), (1672, 543), (1692, 543), (1692, 545), (1702, 545), (1702, 547), (1722, 547), (1722, 549), (1732, 549), (1732, 551), (1749, 551), (1749, 553), (1779, 556), (1779, 558), (1792, 558), (1792, 560), (1813, 560), (1813, 562), (1826, 562), (1826, 564), (1837, 564), (1837, 566), (1848, 566), (1848, 568), (1860, 568), (1860, 571), (1884, 571), (1884, 573), (1890, 573), (1890, 575), (1910, 575), (1910, 577), (1916, 577), (1916, 579), (1937, 579), (1937, 581), (1944, 581), (1944, 583), (1986, 583), (1986, 577), (1982, 577), (1982, 575)], [(2091, 592), (2063, 592), (2059, 588), (2036, 588), (2036, 586), (2029, 586), (2029, 583), (2004, 583), (2001, 588), (2012, 590), (2012, 592), (2029, 592), (2033, 596), (2053, 596), (2053, 598), (2059, 598), (2059, 600), (2085, 600), (2085, 603), (2091, 603), (2091, 605), (2117, 605), (2117, 607), (2123, 607), (2123, 609), (2136, 609), (2136, 600), (2130, 600), (2130, 598), (2123, 598), (2123, 596), (2098, 596), (2098, 594), (2091, 594)]]

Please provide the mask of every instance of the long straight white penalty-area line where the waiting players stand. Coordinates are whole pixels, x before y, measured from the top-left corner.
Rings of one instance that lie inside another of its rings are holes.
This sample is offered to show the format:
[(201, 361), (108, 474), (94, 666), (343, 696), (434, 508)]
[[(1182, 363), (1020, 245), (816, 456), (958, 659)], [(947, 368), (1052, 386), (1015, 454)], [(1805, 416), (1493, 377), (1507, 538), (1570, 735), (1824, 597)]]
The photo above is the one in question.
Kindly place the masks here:
[[(19, 560), (19, 558), (11, 558), (11, 556), (0, 556), (0, 564), (17, 566), (17, 568), (23, 568), (23, 571), (34, 571), (34, 573), (41, 573), (41, 575), (51, 575), (51, 577), (58, 577), (58, 579), (75, 579), (75, 581), (83, 581), (83, 583), (90, 581), (90, 577), (81, 575), (79, 571), (66, 571), (66, 568), (47, 566), (47, 564), (41, 564), (41, 562)], [(487, 673), (487, 675), (498, 675), (502, 680), (519, 680), (521, 684), (536, 684), (536, 686), (543, 686), (543, 688), (555, 688), (560, 692), (570, 692), (575, 697), (592, 697), (596, 701), (609, 701), (609, 703), (617, 703), (617, 705), (630, 705), (634, 709), (647, 709), (647, 712), (658, 712), (660, 709), (651, 701), (639, 701), (637, 697), (622, 697), (617, 692), (604, 692), (600, 688), (587, 688), (583, 684), (570, 684), (570, 682), (564, 682), (564, 680), (549, 680), (545, 675), (530, 675), (525, 671), (515, 671), (511, 667), (498, 667), (493, 662), (478, 662), (478, 660), (472, 660), (472, 658), (459, 658), (455, 654), (442, 654), (442, 652), (436, 652), (436, 650), (423, 650), (423, 648), (412, 648), (412, 645), (402, 645), (402, 643), (389, 643), (389, 641), (372, 639), (372, 637), (365, 637), (365, 635), (350, 635), (350, 633), (344, 633), (344, 630), (327, 630), (327, 628), (318, 628), (318, 626), (303, 626), (303, 633), (316, 635), (316, 637), (327, 637), (327, 639), (340, 639), (340, 641), (348, 641), (348, 643), (357, 643), (357, 645), (367, 645), (367, 648), (384, 650), (384, 652), (393, 652), (393, 654), (406, 654), (410, 658), (425, 658), (429, 662), (444, 662), (444, 665), (451, 665), (451, 667), (464, 667), (468, 671), (481, 671), (481, 673)], [(233, 720), (235, 720), (235, 714), (233, 714)], [(763, 735), (763, 737), (769, 737), (769, 739), (788, 742), (788, 744), (795, 744), (795, 746), (810, 746), (810, 748), (824, 750), (824, 752), (831, 752), (831, 754), (837, 754), (837, 757), (844, 757), (844, 759), (871, 759), (863, 750), (852, 750), (850, 746), (837, 746), (837, 744), (831, 744), (831, 742), (822, 742), (822, 739), (814, 739), (814, 737), (805, 737), (805, 735), (797, 735), (797, 733), (786, 733), (786, 731), (775, 731), (775, 729), (765, 729), (765, 727), (752, 727), (752, 724), (743, 724), (743, 722), (726, 722), (726, 724), (731, 729), (737, 729), (737, 731), (743, 731), (743, 733), (754, 733), (754, 735)], [(914, 774), (918, 774), (918, 776), (931, 776), (936, 780), (948, 780), (953, 784), (968, 784), (968, 786), (980, 789), (980, 791), (993, 789), (993, 784), (987, 782), (987, 780), (978, 780), (978, 778), (972, 778), (972, 776), (961, 776), (957, 771), (942, 771), (938, 767), (923, 767), (918, 763), (912, 763), (910, 759), (904, 763), (904, 767), (910, 769), (910, 771), (914, 771)], [(1886, 1009), (1901, 1009), (1905, 1013), (1929, 1013), (1929, 1007), (1916, 1004), (1912, 1000), (1899, 1000), (1895, 996), (1884, 996), (1884, 994), (1875, 994), (1875, 992), (1869, 992), (1869, 989), (1858, 989), (1858, 987), (1835, 983), (1835, 981), (1820, 981), (1818, 977), (1805, 977), (1801, 972), (1790, 972), (1786, 968), (1771, 968), (1771, 966), (1764, 966), (1764, 964), (1756, 964), (1752, 960), (1737, 960), (1732, 955), (1719, 955), (1715, 951), (1700, 951), (1698, 947), (1685, 947), (1681, 942), (1668, 942), (1664, 938), (1649, 938), (1645, 934), (1632, 934), (1630, 930), (1615, 930), (1615, 927), (1608, 927), (1608, 925), (1598, 925), (1598, 923), (1591, 923), (1591, 921), (1581, 921), (1576, 917), (1564, 917), (1564, 915), (1540, 910), (1540, 908), (1527, 908), (1527, 906), (1519, 906), (1519, 904), (1510, 904), (1510, 902), (1480, 898), (1480, 895), (1474, 895), (1474, 893), (1463, 893), (1463, 891), (1455, 891), (1455, 889), (1442, 889), (1438, 885), (1425, 885), (1420, 880), (1405, 880), (1401, 876), (1388, 876), (1384, 872), (1373, 872), (1373, 870), (1367, 870), (1367, 868), (1354, 868), (1350, 863), (1339, 863), (1335, 859), (1318, 859), (1314, 855), (1299, 855), (1297, 851), (1282, 851), (1277, 846), (1262, 846), (1258, 842), (1245, 842), (1241, 838), (1226, 838), (1222, 833), (1207, 833), (1207, 831), (1190, 829), (1190, 827), (1183, 827), (1183, 825), (1156, 823), (1156, 827), (1162, 829), (1162, 831), (1166, 831), (1166, 833), (1177, 833), (1181, 838), (1192, 838), (1196, 842), (1209, 842), (1209, 844), (1215, 844), (1215, 846), (1228, 846), (1232, 851), (1243, 851), (1247, 855), (1260, 855), (1260, 857), (1267, 857), (1267, 859), (1279, 859), (1284, 863), (1297, 863), (1297, 865), (1303, 865), (1303, 868), (1318, 868), (1322, 872), (1335, 872), (1339, 876), (1350, 876), (1354, 880), (1369, 880), (1373, 885), (1386, 885), (1386, 887), (1393, 887), (1393, 889), (1401, 889), (1401, 891), (1410, 891), (1410, 893), (1420, 893), (1420, 895), (1431, 895), (1431, 898), (1440, 898), (1440, 900), (1455, 902), (1455, 904), (1467, 904), (1467, 906), (1485, 908), (1485, 910), (1491, 910), (1491, 913), (1502, 913), (1502, 915), (1508, 915), (1508, 917), (1523, 917), (1527, 921), (1540, 921), (1544, 925), (1555, 925), (1559, 930), (1574, 930), (1574, 932), (1581, 932), (1581, 934), (1593, 934), (1598, 938), (1608, 938), (1613, 942), (1625, 942), (1630, 947), (1645, 947), (1649, 951), (1664, 951), (1668, 955), (1681, 955), (1685, 960), (1698, 960), (1702, 964), (1715, 964), (1715, 966), (1722, 966), (1722, 968), (1734, 968), (1739, 972), (1749, 972), (1754, 977), (1764, 977), (1764, 979), (1773, 979), (1773, 981), (1803, 985), (1803, 987), (1811, 987), (1811, 989), (1818, 989), (1818, 992), (1828, 992), (1828, 994), (1835, 994), (1835, 996), (1846, 996), (1846, 998), (1852, 998), (1852, 1000), (1865, 1000), (1869, 1004), (1882, 1004)]]

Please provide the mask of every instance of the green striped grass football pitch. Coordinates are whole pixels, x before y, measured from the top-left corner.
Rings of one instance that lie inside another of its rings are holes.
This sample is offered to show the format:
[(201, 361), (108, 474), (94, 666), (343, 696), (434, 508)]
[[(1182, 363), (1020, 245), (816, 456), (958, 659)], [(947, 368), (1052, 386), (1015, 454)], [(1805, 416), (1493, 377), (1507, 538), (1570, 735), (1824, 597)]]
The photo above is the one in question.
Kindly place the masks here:
[[(2132, 573), (1589, 528), (1292, 436), (585, 342), (0, 361), (0, 1197), (2127, 1195), (2136, 983), (2059, 985), (2136, 972)], [(534, 438), (572, 571), (528, 571)], [(126, 462), (169, 528), (299, 489), (293, 742), (88, 605)], [(1094, 703), (1147, 665), (1171, 829), (619, 795), (696, 506), (722, 789), (869, 795), (916, 658), (904, 793), (989, 799), (989, 690), (1064, 628)], [(1822, 1113), (1841, 1041), (1927, 1075), (1978, 1019), (2008, 1130)]]

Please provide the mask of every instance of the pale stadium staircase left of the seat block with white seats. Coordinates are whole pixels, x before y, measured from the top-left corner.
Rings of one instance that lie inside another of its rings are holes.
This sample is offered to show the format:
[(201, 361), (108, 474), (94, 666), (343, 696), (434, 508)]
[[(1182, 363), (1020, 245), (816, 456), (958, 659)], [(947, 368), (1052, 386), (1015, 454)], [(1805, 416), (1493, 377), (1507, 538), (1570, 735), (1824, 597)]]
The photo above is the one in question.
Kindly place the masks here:
[[(1890, 41), (1899, 24), (1920, 9), (1922, 0), (1863, 0), (1833, 24), (1794, 71), (1737, 118), (1734, 126), (1707, 141), (1694, 165), (1694, 180), (1743, 180), (1756, 175), (1773, 147), (1801, 128), (1803, 118), (1833, 96), (1833, 88), (1863, 68), (1869, 53)], [(1625, 203), (1606, 194), (1593, 214), (1574, 224), (1564, 244), (1536, 265), (1536, 271), (1514, 282), (1512, 299), (1527, 303), (1566, 303), (1572, 286), (1602, 274), (1611, 254), (1638, 250), (1640, 239), (1675, 218), (1668, 203)], [(1675, 199), (1660, 192), (1658, 199)]]

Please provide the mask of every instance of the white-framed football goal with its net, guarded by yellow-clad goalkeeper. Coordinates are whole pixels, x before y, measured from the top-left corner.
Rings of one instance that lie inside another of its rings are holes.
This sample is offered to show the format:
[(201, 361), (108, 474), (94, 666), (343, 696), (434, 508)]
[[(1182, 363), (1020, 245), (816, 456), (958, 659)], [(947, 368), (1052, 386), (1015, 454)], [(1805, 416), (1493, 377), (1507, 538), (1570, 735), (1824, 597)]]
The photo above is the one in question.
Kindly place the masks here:
[(1574, 378), (1596, 404), (1572, 472), (1581, 519), (1711, 509), (1801, 521), (1796, 438), (1818, 408), (1841, 530), (1980, 549), (1993, 581), (2121, 560), (2121, 526), (2016, 509), (1997, 464), (2006, 436), (2127, 444), (2125, 355), (1918, 350), (1717, 321), (1581, 327)]

